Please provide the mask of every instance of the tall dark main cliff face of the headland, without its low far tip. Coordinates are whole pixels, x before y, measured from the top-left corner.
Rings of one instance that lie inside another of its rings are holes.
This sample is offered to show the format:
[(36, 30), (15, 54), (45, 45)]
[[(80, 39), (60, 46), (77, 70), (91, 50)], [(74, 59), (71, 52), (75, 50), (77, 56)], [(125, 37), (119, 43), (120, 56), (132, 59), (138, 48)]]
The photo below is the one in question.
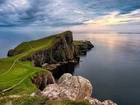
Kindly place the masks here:
[(51, 47), (35, 52), (30, 60), (35, 66), (42, 66), (44, 63), (54, 64), (68, 62), (74, 59), (74, 46), (72, 33), (57, 37), (58, 41)]

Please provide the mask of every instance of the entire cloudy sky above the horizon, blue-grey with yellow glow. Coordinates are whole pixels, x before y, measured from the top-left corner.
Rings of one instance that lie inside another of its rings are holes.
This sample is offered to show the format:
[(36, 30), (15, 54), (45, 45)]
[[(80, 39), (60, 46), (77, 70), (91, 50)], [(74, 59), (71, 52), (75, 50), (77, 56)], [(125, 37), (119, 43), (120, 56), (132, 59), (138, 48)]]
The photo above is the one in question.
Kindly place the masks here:
[(0, 0), (0, 29), (139, 31), (140, 0)]

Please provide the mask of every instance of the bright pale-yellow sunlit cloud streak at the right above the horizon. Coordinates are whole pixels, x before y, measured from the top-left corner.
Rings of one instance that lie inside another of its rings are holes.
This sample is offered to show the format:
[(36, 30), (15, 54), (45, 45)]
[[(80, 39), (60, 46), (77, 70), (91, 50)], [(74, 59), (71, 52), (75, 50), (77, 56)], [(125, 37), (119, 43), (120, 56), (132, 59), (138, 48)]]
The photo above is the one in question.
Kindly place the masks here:
[(120, 12), (111, 12), (104, 16), (99, 16), (85, 21), (85, 24), (113, 25), (126, 24), (130, 22), (140, 22), (140, 9), (132, 11), (129, 14), (120, 14)]

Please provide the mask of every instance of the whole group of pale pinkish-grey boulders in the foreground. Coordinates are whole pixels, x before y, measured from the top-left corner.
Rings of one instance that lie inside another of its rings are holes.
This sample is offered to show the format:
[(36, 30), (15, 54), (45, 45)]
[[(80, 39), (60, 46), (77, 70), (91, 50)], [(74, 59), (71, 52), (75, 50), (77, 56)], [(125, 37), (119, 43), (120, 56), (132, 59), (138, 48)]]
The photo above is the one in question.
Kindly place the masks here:
[(91, 97), (92, 85), (89, 80), (81, 76), (72, 76), (65, 73), (57, 84), (49, 84), (43, 91), (31, 96), (46, 96), (50, 100), (88, 100), (91, 105), (117, 105), (111, 100), (101, 102)]

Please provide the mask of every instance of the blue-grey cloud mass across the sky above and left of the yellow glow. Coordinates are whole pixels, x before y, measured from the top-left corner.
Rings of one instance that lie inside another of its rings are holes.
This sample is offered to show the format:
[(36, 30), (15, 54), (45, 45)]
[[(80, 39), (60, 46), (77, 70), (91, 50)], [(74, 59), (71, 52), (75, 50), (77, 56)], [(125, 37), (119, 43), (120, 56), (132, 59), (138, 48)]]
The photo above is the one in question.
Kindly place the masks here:
[(138, 0), (0, 0), (0, 27), (80, 25), (113, 11), (137, 9)]

